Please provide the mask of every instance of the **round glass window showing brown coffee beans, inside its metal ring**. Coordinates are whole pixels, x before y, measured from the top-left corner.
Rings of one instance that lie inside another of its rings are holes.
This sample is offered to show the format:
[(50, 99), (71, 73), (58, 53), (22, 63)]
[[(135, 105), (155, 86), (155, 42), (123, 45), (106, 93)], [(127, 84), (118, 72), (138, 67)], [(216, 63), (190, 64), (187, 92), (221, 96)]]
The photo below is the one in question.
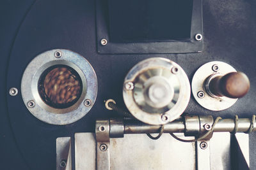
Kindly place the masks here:
[(40, 97), (53, 108), (65, 109), (72, 106), (78, 101), (82, 90), (79, 74), (65, 65), (49, 67), (38, 81)]

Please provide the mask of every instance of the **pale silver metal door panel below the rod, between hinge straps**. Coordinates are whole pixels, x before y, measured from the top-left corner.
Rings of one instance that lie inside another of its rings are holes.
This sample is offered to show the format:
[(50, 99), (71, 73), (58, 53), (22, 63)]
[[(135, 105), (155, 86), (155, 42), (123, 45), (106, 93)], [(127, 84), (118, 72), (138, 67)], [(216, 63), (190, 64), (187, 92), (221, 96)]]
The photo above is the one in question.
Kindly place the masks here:
[[(230, 133), (214, 133), (210, 141), (211, 169), (230, 169)], [(76, 170), (96, 169), (97, 141), (93, 133), (76, 133)], [(110, 169), (196, 169), (195, 143), (183, 143), (163, 134), (125, 134), (110, 139)]]

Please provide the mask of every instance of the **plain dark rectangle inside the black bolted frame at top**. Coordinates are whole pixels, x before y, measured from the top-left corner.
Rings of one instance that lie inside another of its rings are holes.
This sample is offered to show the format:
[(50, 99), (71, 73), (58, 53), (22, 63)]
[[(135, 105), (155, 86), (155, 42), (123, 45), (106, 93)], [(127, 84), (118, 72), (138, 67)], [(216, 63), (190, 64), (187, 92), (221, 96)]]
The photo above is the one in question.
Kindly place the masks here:
[(192, 10), (191, 0), (108, 0), (109, 41), (189, 40)]

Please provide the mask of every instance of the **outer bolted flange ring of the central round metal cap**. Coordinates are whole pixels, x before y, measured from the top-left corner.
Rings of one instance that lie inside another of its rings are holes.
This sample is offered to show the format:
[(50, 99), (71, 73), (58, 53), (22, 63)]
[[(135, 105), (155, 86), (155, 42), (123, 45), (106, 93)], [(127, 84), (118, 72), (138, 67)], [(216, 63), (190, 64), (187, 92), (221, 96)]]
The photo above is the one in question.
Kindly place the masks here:
[[(154, 69), (157, 67), (168, 69), (170, 72), (172, 72), (173, 67), (177, 68), (177, 73), (173, 74), (172, 76), (175, 76), (175, 78), (179, 80), (179, 97), (177, 99), (177, 102), (172, 108), (170, 108), (170, 110), (165, 111), (164, 113), (148, 113), (147, 111), (141, 110), (140, 106), (138, 106), (138, 104), (134, 100), (133, 90), (125, 89), (125, 84), (127, 82), (134, 82), (137, 76), (141, 73), (147, 71), (148, 69)], [(123, 97), (125, 105), (135, 118), (146, 124), (164, 125), (179, 118), (180, 115), (187, 108), (190, 99), (190, 83), (188, 80), (188, 76), (182, 69), (182, 67), (180, 67), (172, 60), (160, 57), (150, 58), (139, 62), (129, 71), (124, 80)], [(168, 121), (162, 120), (163, 114), (168, 116)]]

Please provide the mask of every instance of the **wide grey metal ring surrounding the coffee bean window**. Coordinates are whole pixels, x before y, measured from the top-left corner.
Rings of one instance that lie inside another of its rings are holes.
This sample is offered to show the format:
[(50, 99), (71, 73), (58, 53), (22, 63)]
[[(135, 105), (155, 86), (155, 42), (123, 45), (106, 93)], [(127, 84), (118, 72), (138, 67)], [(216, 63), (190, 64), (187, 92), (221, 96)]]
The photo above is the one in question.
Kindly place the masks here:
[[(61, 52), (61, 57), (56, 58), (55, 52)], [(78, 101), (64, 109), (52, 108), (47, 105), (38, 93), (38, 80), (45, 69), (54, 65), (66, 65), (72, 67), (80, 76), (83, 90)], [(67, 125), (81, 119), (90, 111), (97, 97), (97, 76), (88, 60), (76, 52), (64, 49), (49, 50), (40, 53), (31, 60), (26, 67), (21, 81), (21, 94), (24, 104), (36, 118), (54, 125)], [(90, 107), (84, 106), (84, 100), (90, 99)], [(29, 108), (28, 102), (35, 101), (35, 107)]]

